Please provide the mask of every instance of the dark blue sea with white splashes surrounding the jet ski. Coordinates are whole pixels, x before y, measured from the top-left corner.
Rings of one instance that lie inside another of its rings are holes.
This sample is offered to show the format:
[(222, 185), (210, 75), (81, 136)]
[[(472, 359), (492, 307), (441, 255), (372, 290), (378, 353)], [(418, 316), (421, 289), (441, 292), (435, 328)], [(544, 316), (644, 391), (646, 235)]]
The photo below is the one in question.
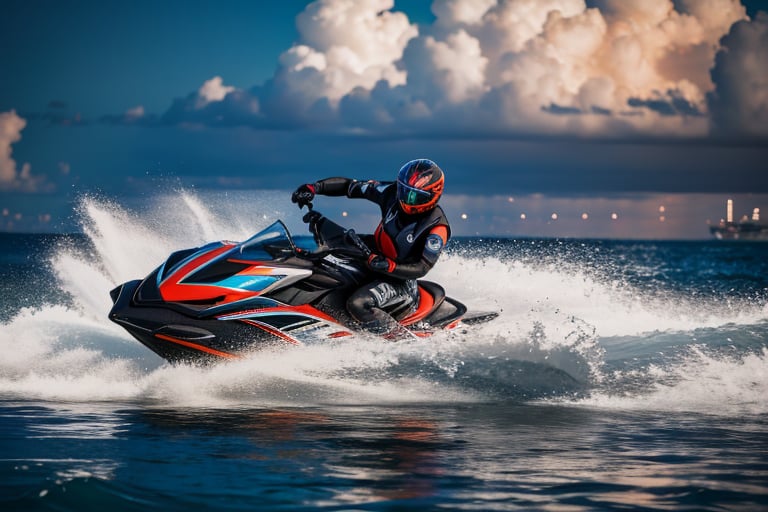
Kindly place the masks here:
[(768, 510), (768, 244), (457, 239), (493, 322), (169, 366), (109, 290), (273, 220), (171, 199), (0, 234), (0, 510)]

